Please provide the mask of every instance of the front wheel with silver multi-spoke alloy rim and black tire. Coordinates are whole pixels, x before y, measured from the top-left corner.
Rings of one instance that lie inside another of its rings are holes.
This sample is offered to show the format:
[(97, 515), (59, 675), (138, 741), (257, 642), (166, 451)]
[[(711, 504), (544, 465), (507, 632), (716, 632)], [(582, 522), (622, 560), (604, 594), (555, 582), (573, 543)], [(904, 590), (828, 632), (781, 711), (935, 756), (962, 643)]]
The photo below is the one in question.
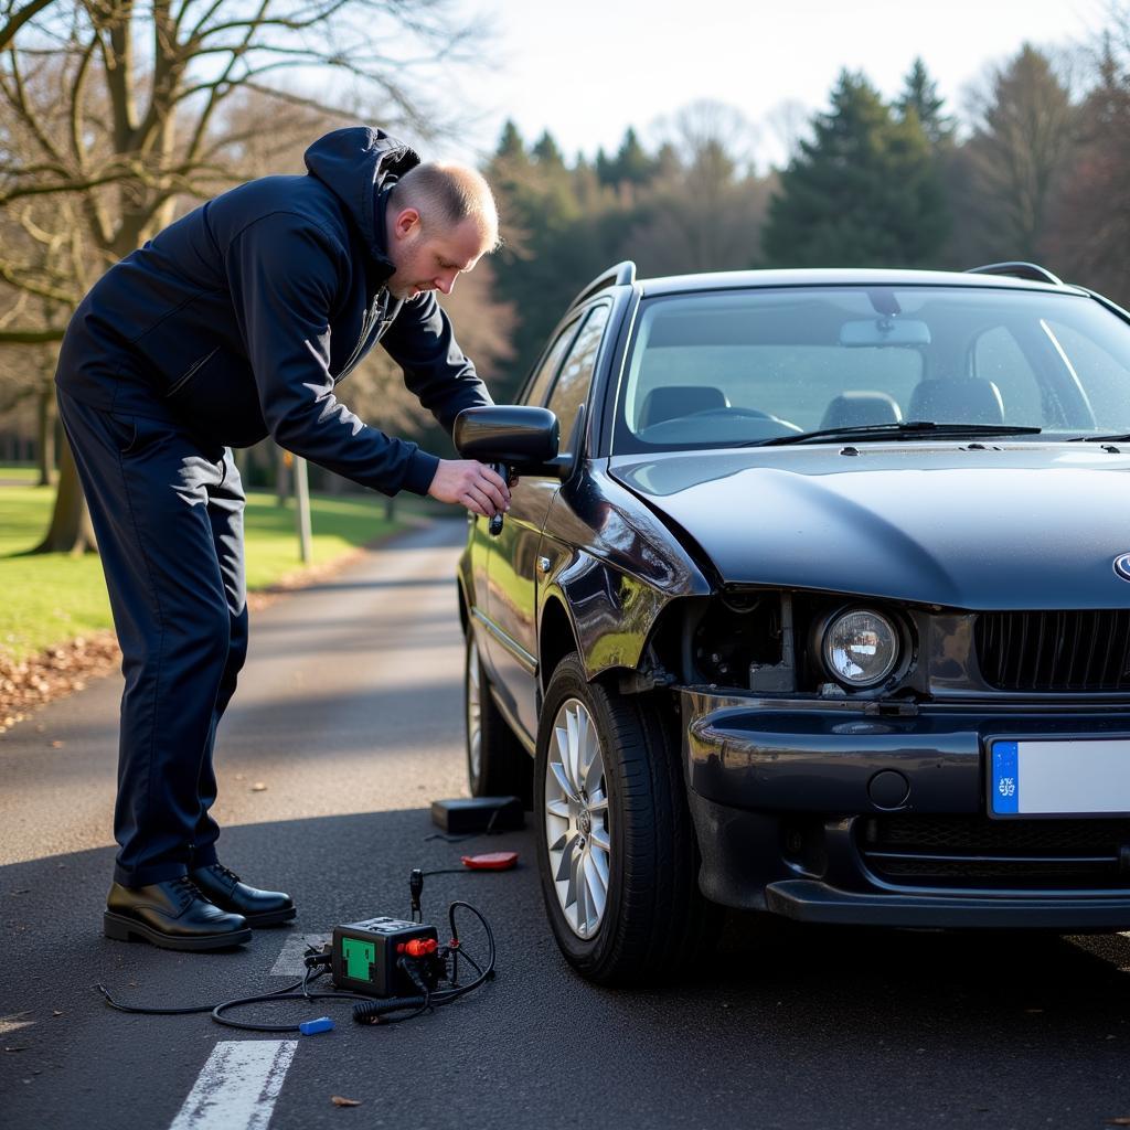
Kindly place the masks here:
[[(550, 678), (533, 770), (538, 871), (562, 953), (600, 984), (685, 973), (720, 913), (698, 890), (698, 845), (675, 730), (667, 701), (588, 681), (575, 653)], [(580, 747), (594, 739), (598, 753), (585, 768), (581, 748), (571, 774), (563, 745), (574, 738)], [(602, 871), (603, 905), (596, 914)]]

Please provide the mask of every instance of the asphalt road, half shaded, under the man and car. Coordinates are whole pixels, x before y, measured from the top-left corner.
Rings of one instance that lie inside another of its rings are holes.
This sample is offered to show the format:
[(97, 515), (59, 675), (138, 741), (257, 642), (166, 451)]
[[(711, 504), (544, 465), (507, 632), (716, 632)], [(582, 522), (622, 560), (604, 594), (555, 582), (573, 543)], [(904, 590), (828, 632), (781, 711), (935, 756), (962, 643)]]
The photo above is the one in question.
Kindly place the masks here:
[(311, 1037), (108, 1009), (97, 982), (140, 1005), (277, 989), (293, 935), (407, 915), (410, 868), (458, 864), (464, 847), (427, 837), (431, 800), (464, 791), (462, 532), (415, 531), (254, 617), (218, 755), (221, 857), (286, 886), (299, 916), (242, 950), (101, 936), (116, 678), (0, 737), (0, 1125), (1028, 1130), (1130, 1118), (1125, 936), (765, 932), (738, 919), (709, 967), (609, 992), (558, 956), (529, 831), (473, 844), (516, 849), (520, 870), (427, 881), (428, 918), (466, 897), (497, 935), (497, 980), (453, 1007), (388, 1028), (332, 1002), (242, 1014), (338, 1019)]

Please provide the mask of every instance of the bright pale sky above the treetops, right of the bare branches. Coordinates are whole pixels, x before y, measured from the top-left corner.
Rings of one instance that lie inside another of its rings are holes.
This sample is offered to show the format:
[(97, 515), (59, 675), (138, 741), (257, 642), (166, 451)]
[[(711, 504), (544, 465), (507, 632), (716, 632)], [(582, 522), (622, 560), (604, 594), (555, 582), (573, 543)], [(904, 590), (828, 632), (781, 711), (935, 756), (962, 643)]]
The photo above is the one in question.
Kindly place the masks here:
[(483, 14), (493, 42), (441, 97), (462, 139), (436, 156), (478, 162), (512, 118), (528, 141), (548, 129), (566, 155), (592, 157), (628, 125), (654, 141), (657, 120), (710, 99), (755, 127), (749, 155), (764, 171), (785, 153), (776, 107), (823, 108), (842, 68), (894, 97), (921, 55), (959, 108), (985, 67), (1025, 41), (1092, 41), (1104, 0), (455, 0), (455, 11)]

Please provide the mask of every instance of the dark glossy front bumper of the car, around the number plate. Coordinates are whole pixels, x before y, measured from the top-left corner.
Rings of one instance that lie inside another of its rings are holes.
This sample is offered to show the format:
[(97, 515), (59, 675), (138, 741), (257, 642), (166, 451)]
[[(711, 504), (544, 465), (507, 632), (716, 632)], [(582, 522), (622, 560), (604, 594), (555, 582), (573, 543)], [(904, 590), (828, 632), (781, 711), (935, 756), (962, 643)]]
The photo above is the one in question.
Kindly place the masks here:
[(699, 885), (714, 902), (869, 925), (1130, 927), (1130, 814), (990, 819), (984, 756), (993, 738), (1130, 736), (1130, 705), (887, 718), (680, 697)]

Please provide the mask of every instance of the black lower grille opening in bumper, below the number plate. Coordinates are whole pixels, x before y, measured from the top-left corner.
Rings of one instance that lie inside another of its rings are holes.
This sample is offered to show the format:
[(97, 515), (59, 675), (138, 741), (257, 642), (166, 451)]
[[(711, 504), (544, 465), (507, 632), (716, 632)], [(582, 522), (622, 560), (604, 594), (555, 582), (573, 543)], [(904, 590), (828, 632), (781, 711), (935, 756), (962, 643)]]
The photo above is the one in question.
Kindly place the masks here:
[(1130, 820), (880, 816), (857, 825), (879, 878), (906, 886), (1130, 888)]

